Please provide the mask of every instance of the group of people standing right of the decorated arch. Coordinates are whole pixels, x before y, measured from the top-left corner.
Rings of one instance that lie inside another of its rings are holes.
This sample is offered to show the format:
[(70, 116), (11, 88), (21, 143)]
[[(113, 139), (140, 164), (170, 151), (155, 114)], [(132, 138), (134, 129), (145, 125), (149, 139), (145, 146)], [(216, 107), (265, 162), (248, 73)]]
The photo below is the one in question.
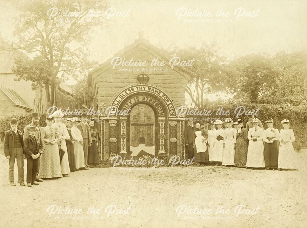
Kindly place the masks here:
[[(216, 120), (194, 122), (188, 120), (185, 128), (185, 146), (188, 159), (196, 163), (215, 164), (246, 168), (296, 169), (292, 145), (295, 137), (290, 129), (290, 121), (282, 120), (283, 129), (273, 128), (274, 120), (265, 121), (267, 129), (253, 113), (248, 113), (249, 121), (233, 122)], [(224, 125), (224, 127), (223, 127)], [(279, 143), (278, 143), (279, 142)], [(279, 146), (278, 146), (279, 144)]]

